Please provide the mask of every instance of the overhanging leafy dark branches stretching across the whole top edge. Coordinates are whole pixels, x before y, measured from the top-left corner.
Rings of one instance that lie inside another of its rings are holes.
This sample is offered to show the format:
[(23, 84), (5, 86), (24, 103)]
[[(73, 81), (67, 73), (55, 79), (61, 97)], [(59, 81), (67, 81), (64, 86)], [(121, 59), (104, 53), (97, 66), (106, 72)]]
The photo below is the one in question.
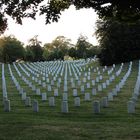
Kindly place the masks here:
[[(0, 33), (7, 28), (7, 15), (22, 24), (23, 18), (35, 19), (36, 14), (45, 14), (46, 23), (58, 21), (61, 11), (75, 5), (77, 9), (93, 8), (101, 18), (115, 17), (120, 21), (140, 19), (139, 0), (1, 0)], [(43, 3), (42, 3), (43, 2)]]

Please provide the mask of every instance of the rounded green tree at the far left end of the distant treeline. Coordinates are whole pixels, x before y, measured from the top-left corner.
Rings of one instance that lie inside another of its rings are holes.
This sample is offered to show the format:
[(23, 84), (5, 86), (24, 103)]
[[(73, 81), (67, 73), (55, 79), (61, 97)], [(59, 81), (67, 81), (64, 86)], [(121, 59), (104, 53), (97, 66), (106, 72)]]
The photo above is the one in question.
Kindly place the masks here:
[(14, 36), (0, 38), (0, 52), (0, 60), (4, 63), (24, 59), (25, 56), (23, 44)]

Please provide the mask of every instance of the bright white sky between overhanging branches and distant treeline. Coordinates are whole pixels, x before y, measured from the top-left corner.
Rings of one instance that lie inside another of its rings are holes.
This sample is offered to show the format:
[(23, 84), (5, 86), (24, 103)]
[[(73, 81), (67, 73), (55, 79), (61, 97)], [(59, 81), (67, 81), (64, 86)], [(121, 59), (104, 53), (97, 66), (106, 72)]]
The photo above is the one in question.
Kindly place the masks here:
[(74, 6), (62, 12), (58, 22), (45, 25), (45, 17), (38, 16), (36, 20), (23, 19), (23, 25), (16, 24), (11, 18), (8, 19), (8, 29), (4, 35), (14, 35), (25, 45), (29, 39), (38, 35), (38, 40), (44, 43), (51, 43), (57, 36), (65, 36), (71, 39), (72, 43), (77, 42), (82, 34), (88, 37), (93, 45), (98, 42), (94, 35), (95, 22), (98, 19), (93, 9), (76, 10)]

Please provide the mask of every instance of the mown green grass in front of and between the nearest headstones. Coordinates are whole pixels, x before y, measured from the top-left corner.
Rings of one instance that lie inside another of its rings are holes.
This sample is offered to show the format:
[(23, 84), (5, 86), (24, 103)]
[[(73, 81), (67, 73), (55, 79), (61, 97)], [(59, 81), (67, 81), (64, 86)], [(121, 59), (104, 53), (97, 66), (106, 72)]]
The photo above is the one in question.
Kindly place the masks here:
[[(92, 64), (91, 64), (92, 65)], [(105, 95), (119, 82), (127, 71), (126, 63), (123, 71), (107, 89), (93, 96), (97, 100)], [(119, 67), (119, 65), (118, 65)], [(14, 75), (19, 78), (11, 65)], [(2, 85), (0, 67), (0, 85)], [(25, 107), (13, 84), (8, 65), (5, 65), (5, 78), (11, 111), (3, 111), (2, 87), (0, 86), (0, 140), (138, 140), (140, 139), (140, 101), (136, 104), (136, 113), (127, 113), (127, 102), (132, 97), (138, 75), (138, 61), (133, 62), (132, 72), (124, 87), (109, 102), (107, 108), (101, 108), (100, 114), (93, 112), (92, 101), (84, 101), (75, 107), (73, 98), (69, 97), (69, 113), (61, 113), (61, 98), (57, 97), (56, 106), (49, 107), (48, 101), (42, 102), (40, 97), (32, 95), (31, 99), (39, 100), (39, 112), (32, 107)], [(25, 88), (23, 81), (19, 81)], [(28, 88), (27, 88), (28, 90)]]

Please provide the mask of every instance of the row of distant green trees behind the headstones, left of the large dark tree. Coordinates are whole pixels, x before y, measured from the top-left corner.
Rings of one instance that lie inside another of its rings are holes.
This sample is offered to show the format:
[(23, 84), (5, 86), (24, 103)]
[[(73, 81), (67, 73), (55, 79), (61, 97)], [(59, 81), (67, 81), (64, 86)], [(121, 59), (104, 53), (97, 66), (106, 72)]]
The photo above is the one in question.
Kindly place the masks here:
[(80, 36), (74, 45), (64, 36), (56, 37), (51, 43), (42, 43), (37, 36), (29, 40), (24, 46), (14, 36), (0, 38), (0, 62), (12, 63), (15, 61), (51, 61), (64, 60), (65, 56), (73, 59), (89, 58), (99, 54), (100, 49), (87, 41), (85, 36)]

